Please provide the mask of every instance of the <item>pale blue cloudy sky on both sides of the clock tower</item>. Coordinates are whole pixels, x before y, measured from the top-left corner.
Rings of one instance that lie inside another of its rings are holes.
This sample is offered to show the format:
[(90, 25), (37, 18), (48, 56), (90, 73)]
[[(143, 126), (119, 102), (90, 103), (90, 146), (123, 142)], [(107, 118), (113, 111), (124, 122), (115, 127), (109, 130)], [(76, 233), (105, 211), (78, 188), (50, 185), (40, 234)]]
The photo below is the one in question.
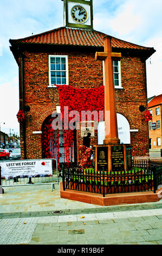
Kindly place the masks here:
[[(147, 97), (162, 93), (162, 1), (93, 0), (93, 28), (156, 52), (146, 60)], [(61, 0), (0, 2), (0, 125), (19, 135), (18, 65), (9, 39), (20, 39), (63, 26)]]

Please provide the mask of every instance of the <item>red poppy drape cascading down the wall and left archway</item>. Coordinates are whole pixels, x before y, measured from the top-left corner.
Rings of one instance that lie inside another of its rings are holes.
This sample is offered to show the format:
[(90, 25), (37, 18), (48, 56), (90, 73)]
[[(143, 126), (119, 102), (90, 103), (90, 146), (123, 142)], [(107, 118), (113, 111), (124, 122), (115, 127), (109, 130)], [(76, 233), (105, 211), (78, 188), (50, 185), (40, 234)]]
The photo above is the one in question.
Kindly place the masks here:
[[(103, 111), (104, 115), (104, 90), (105, 87), (81, 89), (72, 86), (57, 86), (60, 96), (60, 105), (63, 125), (64, 162), (73, 160), (74, 131), (68, 128), (70, 111), (77, 111), (81, 121), (81, 111)], [(64, 113), (64, 106), (68, 107), (68, 113)], [(99, 114), (98, 114), (99, 117)], [(59, 129), (53, 130), (52, 122), (54, 118), (49, 117), (42, 125), (42, 152), (44, 158), (55, 158), (59, 164)]]

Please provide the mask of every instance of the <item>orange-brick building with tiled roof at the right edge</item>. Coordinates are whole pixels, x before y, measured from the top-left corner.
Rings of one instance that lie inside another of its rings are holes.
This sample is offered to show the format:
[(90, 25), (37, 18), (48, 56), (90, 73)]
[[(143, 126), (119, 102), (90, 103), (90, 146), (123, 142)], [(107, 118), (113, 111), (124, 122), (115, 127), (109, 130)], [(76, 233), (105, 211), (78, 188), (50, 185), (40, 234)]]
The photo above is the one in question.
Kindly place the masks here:
[(148, 100), (148, 109), (152, 114), (152, 121), (149, 122), (150, 156), (161, 156), (162, 142), (162, 94), (153, 96)]

